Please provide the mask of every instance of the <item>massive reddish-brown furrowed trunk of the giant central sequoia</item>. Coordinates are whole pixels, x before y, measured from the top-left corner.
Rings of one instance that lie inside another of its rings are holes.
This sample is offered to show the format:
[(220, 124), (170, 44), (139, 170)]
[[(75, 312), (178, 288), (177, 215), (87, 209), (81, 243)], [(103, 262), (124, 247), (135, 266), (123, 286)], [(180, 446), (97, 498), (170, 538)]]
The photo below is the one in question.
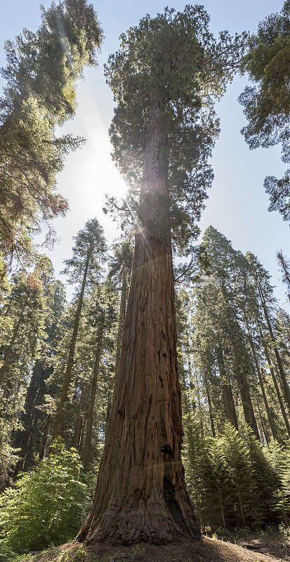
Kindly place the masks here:
[[(91, 514), (78, 540), (171, 542), (200, 536), (181, 462), (180, 384), (164, 141), (153, 107), (121, 358)], [(159, 195), (161, 197), (159, 197)], [(164, 210), (165, 209), (165, 210)], [(167, 211), (168, 212), (168, 211)]]

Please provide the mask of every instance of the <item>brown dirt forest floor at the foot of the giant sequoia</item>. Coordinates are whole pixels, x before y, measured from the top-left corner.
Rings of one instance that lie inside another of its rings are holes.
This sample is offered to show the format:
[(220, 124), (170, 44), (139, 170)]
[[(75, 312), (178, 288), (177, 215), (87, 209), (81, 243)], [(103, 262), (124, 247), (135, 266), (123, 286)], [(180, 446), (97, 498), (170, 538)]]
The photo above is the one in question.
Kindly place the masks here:
[[(183, 540), (157, 546), (138, 544), (118, 547), (101, 543), (82, 547), (74, 542), (27, 562), (286, 562), (290, 561), (290, 540), (268, 535), (267, 539), (240, 540), (241, 544), (203, 537), (201, 541)], [(22, 558), (26, 562), (25, 558)]]

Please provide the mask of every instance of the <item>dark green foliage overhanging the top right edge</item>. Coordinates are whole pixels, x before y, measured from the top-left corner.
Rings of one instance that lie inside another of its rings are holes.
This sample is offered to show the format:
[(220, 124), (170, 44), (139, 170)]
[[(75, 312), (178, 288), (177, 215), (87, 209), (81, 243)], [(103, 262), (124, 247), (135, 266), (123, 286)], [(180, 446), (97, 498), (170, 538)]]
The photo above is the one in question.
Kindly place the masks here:
[[(282, 144), (282, 162), (289, 164), (290, 110), (290, 2), (280, 13), (271, 14), (258, 25), (249, 39), (244, 70), (255, 86), (246, 86), (239, 96), (249, 123), (242, 129), (250, 148)], [(269, 211), (279, 211), (290, 220), (290, 170), (280, 180), (265, 178), (270, 196)]]

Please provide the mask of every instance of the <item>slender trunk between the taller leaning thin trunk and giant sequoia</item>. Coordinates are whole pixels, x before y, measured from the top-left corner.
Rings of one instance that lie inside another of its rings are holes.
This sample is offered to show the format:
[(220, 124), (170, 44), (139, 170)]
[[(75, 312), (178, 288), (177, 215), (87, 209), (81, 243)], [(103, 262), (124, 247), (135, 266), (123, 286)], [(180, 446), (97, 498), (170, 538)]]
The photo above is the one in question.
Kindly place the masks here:
[(98, 372), (100, 367), (100, 354), (102, 353), (102, 340), (104, 331), (105, 313), (103, 312), (98, 330), (98, 343), (95, 351), (95, 362), (93, 366), (93, 380), (91, 384), (91, 396), (88, 404), (88, 421), (86, 424), (86, 438), (84, 440), (83, 466), (84, 471), (88, 468), (91, 450), (91, 434), (93, 430), (93, 411), (95, 408), (95, 394), (97, 392)]

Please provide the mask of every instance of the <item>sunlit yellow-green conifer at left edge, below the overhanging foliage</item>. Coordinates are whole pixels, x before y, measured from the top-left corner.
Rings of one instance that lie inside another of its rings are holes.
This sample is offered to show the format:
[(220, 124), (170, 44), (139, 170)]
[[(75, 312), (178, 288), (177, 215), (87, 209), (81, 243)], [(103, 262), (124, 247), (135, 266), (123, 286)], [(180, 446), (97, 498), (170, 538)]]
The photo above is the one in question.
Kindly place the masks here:
[[(3, 309), (2, 311), (3, 312)], [(1, 480), (8, 482), (8, 469), (15, 461), (11, 432), (18, 429), (30, 368), (44, 340), (46, 299), (43, 285), (34, 274), (13, 277), (11, 302), (6, 309), (6, 330), (2, 333), (0, 391)], [(5, 313), (4, 313), (5, 314)]]

